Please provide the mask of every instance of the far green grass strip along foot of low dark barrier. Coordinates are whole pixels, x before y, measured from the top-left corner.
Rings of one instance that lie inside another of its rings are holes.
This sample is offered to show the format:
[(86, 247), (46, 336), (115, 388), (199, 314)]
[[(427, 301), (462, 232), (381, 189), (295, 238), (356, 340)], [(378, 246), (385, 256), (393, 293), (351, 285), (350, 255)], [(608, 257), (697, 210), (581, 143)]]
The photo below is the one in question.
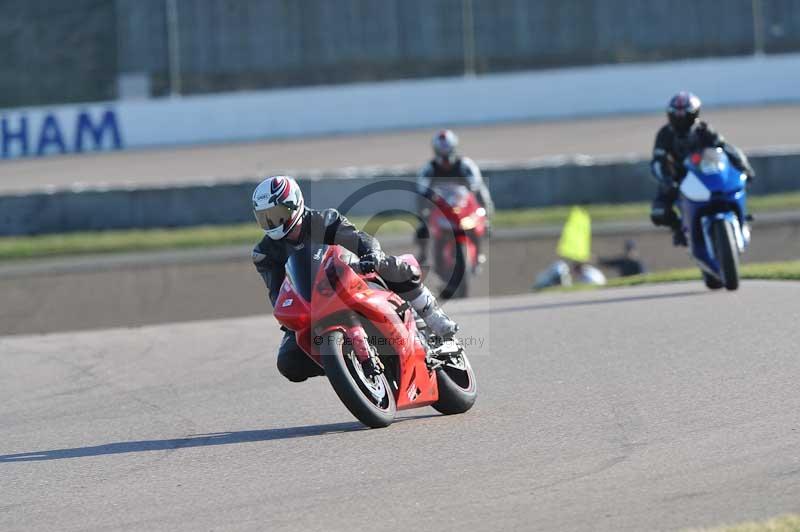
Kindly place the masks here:
[[(595, 223), (609, 221), (646, 221), (648, 203), (589, 205)], [(756, 215), (766, 211), (800, 209), (800, 193), (754, 196), (750, 210)], [(563, 224), (569, 207), (543, 207), (498, 211), (495, 227), (535, 227)], [(386, 218), (354, 217), (354, 223), (379, 235), (410, 233), (416, 225), (413, 216)], [(159, 249), (182, 249), (245, 244), (261, 238), (255, 223), (203, 226), (180, 229), (97, 231), (26, 237), (0, 237), (0, 261), (46, 256), (88, 253), (118, 253)]]

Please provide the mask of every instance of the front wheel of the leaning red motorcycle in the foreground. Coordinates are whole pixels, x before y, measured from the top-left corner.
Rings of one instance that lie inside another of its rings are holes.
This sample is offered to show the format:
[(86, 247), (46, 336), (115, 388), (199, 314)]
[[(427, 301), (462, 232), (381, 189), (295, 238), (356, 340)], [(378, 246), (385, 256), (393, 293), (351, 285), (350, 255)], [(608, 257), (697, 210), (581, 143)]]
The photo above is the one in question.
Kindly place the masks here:
[(388, 427), (394, 421), (397, 404), (386, 375), (366, 377), (352, 346), (344, 340), (342, 331), (332, 331), (320, 346), (328, 381), (344, 406), (364, 425)]

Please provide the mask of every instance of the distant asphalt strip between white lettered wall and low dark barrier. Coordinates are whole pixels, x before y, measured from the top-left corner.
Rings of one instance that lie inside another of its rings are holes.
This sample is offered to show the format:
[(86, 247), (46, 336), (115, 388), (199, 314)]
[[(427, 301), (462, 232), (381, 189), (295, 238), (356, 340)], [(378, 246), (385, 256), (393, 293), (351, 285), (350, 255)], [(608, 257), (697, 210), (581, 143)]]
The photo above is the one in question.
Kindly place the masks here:
[[(624, 97), (624, 95), (621, 95)], [(708, 109), (728, 140), (746, 151), (800, 147), (800, 105)], [(662, 113), (555, 122), (457, 127), (462, 151), (478, 161), (525, 161), (562, 154), (648, 156)], [(442, 124), (445, 126), (447, 124)], [(163, 186), (236, 181), (258, 175), (345, 167), (421, 167), (432, 129), (84, 154), (0, 161), (0, 193), (68, 186)]]

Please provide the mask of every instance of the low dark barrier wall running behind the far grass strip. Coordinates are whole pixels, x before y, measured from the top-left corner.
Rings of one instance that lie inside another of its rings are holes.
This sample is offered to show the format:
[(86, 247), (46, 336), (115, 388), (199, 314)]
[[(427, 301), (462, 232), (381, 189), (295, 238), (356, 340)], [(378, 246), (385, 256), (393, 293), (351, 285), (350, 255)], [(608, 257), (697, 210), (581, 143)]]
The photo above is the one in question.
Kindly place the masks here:
[[(800, 190), (800, 152), (762, 152), (751, 160), (758, 173), (752, 193)], [(643, 201), (655, 192), (647, 162), (633, 157), (576, 156), (484, 167), (500, 209)], [(256, 184), (253, 179), (0, 196), (0, 235), (246, 222), (252, 219), (250, 196)], [(350, 215), (409, 211), (416, 202), (410, 168), (306, 176), (301, 186), (309, 205), (339, 207)]]

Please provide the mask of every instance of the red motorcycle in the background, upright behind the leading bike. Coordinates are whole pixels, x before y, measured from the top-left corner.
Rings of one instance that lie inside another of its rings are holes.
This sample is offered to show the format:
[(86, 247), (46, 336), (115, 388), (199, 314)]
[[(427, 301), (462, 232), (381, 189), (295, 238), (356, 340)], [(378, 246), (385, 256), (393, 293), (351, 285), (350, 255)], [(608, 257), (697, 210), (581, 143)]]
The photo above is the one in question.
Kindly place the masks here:
[(469, 188), (455, 183), (434, 186), (433, 203), (428, 227), (433, 269), (446, 283), (442, 297), (467, 297), (469, 276), (483, 260), (478, 244), (486, 236), (486, 209)]

